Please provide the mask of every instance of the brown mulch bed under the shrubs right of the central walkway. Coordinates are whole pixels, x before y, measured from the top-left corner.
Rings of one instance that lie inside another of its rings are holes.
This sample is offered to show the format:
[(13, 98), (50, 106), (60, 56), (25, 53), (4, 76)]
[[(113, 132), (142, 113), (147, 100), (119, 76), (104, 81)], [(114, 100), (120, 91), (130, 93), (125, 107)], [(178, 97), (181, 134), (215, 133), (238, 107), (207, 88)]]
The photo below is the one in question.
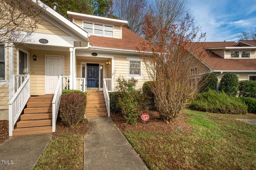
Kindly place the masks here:
[(182, 129), (182, 132), (191, 132), (193, 127), (187, 123), (187, 117), (181, 113), (170, 123), (164, 123), (161, 121), (157, 112), (149, 113), (149, 121), (142, 122), (139, 120), (137, 124), (131, 125), (125, 122), (124, 117), (121, 114), (112, 114), (111, 119), (116, 123), (117, 127), (121, 131), (137, 131), (148, 133), (165, 133), (169, 134), (173, 130)]

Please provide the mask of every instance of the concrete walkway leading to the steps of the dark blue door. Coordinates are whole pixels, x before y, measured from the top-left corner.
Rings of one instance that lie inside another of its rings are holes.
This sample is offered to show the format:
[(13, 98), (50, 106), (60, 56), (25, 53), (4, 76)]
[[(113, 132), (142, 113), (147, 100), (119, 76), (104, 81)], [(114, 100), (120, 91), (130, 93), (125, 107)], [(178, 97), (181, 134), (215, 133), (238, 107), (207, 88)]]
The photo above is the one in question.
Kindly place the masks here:
[(148, 169), (110, 117), (89, 118), (84, 140), (84, 169)]

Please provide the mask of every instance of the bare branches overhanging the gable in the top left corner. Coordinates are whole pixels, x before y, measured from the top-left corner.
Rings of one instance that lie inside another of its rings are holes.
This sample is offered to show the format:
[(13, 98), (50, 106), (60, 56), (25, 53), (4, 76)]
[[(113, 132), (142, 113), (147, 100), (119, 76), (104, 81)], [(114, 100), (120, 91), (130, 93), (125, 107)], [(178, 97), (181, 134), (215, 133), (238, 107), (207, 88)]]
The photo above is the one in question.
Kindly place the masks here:
[(44, 12), (37, 0), (0, 0), (0, 43), (22, 43), (37, 29)]

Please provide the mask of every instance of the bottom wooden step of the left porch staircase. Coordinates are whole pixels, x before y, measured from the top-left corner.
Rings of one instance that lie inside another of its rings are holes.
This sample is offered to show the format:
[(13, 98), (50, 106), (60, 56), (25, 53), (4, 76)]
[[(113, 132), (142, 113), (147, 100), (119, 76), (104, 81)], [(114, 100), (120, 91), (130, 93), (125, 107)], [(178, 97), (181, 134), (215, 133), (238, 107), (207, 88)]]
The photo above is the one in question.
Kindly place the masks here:
[(12, 131), (12, 135), (28, 135), (28, 134), (41, 134), (52, 133), (52, 126), (40, 126), (31, 128), (17, 128)]

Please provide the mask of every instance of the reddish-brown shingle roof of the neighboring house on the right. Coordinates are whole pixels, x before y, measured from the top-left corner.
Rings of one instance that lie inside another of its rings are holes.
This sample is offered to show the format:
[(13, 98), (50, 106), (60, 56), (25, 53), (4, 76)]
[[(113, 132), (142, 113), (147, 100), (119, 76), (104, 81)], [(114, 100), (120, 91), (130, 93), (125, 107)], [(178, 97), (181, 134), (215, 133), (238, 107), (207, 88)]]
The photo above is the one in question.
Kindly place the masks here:
[(203, 51), (203, 57), (199, 59), (213, 71), (256, 71), (256, 59), (225, 59), (207, 49), (235, 45), (236, 42), (234, 41), (199, 43), (199, 48), (196, 49), (193, 55), (197, 57), (197, 54)]

